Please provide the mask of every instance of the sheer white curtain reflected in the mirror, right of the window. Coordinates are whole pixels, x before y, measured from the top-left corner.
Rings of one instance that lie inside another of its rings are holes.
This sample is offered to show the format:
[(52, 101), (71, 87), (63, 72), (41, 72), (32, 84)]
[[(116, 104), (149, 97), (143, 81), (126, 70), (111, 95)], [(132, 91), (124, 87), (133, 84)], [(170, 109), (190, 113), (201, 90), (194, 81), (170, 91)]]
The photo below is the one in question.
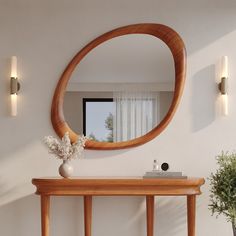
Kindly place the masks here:
[(113, 138), (115, 142), (140, 137), (159, 122), (158, 92), (114, 92)]

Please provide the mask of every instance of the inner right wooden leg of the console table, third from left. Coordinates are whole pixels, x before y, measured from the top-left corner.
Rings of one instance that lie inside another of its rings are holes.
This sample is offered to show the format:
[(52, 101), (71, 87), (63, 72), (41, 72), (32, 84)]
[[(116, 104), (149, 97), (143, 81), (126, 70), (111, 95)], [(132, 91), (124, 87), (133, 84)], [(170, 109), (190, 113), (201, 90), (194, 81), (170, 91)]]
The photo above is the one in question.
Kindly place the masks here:
[(147, 236), (154, 235), (154, 196), (146, 196)]

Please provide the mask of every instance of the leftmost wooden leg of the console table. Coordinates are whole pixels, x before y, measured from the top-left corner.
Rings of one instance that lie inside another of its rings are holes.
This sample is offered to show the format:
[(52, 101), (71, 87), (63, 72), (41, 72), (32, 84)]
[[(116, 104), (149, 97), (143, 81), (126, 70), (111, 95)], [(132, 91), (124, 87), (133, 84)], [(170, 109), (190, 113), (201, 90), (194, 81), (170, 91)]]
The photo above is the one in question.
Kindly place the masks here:
[(50, 196), (41, 195), (41, 228), (42, 236), (49, 236)]

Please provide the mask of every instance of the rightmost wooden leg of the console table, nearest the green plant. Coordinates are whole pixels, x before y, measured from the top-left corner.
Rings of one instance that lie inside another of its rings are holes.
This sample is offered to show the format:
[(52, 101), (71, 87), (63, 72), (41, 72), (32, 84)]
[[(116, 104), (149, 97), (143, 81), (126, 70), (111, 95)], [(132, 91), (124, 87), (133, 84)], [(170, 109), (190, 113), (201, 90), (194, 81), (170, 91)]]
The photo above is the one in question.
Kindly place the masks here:
[(196, 195), (187, 196), (188, 236), (195, 236)]

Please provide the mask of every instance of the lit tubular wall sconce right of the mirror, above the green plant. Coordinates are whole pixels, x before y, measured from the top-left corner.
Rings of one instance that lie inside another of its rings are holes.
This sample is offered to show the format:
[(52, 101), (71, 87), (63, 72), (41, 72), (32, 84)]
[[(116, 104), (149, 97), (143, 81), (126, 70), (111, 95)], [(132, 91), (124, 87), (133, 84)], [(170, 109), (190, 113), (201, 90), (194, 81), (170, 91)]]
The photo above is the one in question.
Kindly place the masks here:
[(228, 109), (228, 57), (221, 59), (221, 82), (218, 85), (222, 99), (222, 113), (227, 116)]

